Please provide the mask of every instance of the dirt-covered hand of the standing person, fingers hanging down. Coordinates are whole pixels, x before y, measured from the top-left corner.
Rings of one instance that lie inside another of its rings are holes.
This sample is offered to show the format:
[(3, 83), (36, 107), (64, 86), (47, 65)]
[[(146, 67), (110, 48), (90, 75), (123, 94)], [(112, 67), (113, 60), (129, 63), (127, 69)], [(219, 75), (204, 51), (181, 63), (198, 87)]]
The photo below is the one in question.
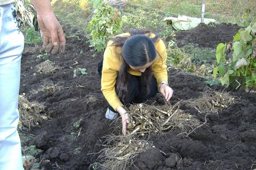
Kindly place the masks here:
[(47, 53), (51, 51), (52, 55), (56, 55), (58, 52), (63, 53), (66, 39), (54, 13), (37, 15), (37, 21), (43, 33), (43, 49), (46, 49)]

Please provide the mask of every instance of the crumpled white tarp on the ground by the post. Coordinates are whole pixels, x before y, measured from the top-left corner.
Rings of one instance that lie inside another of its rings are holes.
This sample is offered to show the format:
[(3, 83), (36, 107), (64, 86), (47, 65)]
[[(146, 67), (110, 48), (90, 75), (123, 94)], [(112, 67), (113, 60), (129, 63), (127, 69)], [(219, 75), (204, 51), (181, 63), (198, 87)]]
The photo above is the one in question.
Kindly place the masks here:
[[(163, 19), (170, 24), (172, 24), (173, 28), (176, 30), (190, 30), (196, 28), (201, 23), (201, 18), (193, 18), (191, 16), (178, 16), (175, 17), (166, 17)], [(204, 23), (209, 24), (210, 22), (215, 23), (215, 19), (205, 18)]]

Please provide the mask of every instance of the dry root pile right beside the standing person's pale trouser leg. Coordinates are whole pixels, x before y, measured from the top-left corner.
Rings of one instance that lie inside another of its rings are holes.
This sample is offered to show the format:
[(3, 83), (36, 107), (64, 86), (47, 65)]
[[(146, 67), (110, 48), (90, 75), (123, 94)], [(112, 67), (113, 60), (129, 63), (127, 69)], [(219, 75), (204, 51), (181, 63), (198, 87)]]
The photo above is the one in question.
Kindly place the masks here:
[(45, 106), (37, 102), (30, 103), (24, 95), (19, 95), (18, 109), (20, 112), (19, 128), (28, 127), (31, 130), (31, 127), (38, 126), (40, 121), (49, 119), (47, 115), (41, 114)]

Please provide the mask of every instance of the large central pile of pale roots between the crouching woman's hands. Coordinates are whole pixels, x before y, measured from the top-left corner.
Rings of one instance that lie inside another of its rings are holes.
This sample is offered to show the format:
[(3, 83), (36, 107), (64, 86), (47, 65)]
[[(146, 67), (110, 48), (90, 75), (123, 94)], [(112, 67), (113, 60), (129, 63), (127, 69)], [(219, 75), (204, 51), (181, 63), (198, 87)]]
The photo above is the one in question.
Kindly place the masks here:
[[(132, 105), (126, 110), (129, 113), (127, 134), (144, 136), (180, 129), (183, 132), (193, 131), (200, 122), (193, 115), (179, 109), (180, 103), (174, 106), (151, 106), (144, 104)], [(116, 121), (116, 128), (122, 127), (121, 121)]]

